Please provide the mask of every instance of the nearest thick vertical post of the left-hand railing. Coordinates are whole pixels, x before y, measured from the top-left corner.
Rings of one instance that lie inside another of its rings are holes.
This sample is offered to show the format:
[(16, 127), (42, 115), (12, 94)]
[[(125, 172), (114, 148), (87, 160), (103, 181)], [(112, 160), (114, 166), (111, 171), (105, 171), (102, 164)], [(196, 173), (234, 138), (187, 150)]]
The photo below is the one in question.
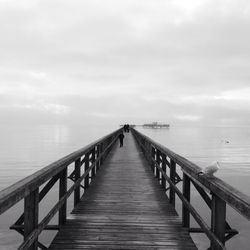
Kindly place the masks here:
[[(38, 226), (39, 189), (35, 189), (24, 199), (24, 240)], [(37, 240), (28, 248), (37, 250)]]

